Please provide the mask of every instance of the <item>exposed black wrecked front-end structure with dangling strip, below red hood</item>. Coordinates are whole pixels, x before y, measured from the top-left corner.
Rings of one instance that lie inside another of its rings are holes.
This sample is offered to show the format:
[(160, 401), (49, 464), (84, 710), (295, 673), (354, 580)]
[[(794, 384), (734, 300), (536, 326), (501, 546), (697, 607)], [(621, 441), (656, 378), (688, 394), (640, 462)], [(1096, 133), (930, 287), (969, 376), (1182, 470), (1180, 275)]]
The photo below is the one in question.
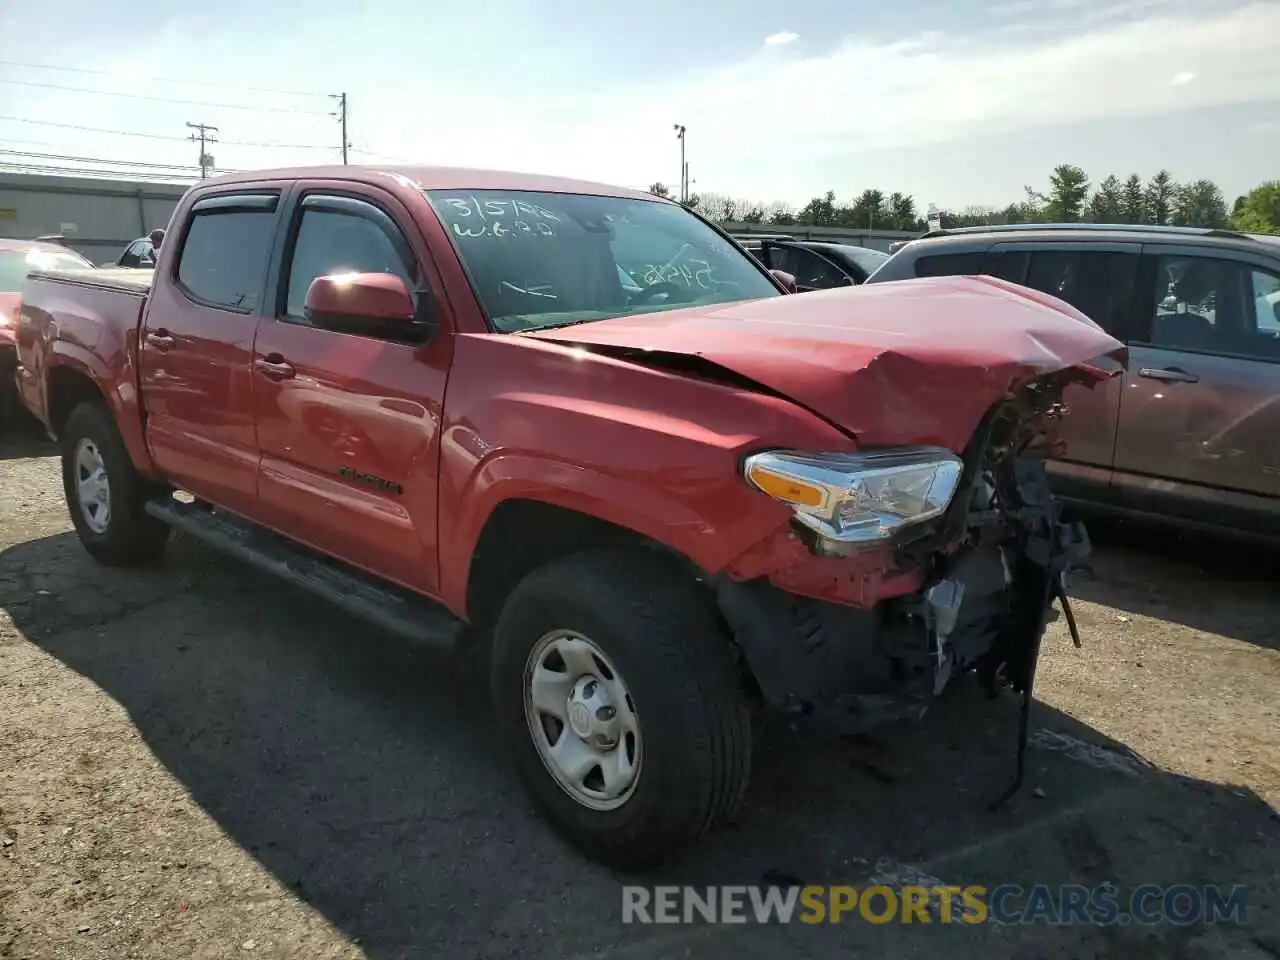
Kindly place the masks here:
[(859, 735), (920, 718), (959, 675), (1021, 696), (1016, 769), (991, 804), (1023, 786), (1036, 672), (1053, 602), (1076, 646), (1066, 576), (1089, 554), (1079, 522), (1050, 490), (1046, 421), (1055, 384), (993, 408), (965, 452), (961, 493), (942, 522), (893, 548), (922, 590), (873, 607), (810, 599), (768, 579), (710, 577), (717, 605), (764, 699), (796, 727)]

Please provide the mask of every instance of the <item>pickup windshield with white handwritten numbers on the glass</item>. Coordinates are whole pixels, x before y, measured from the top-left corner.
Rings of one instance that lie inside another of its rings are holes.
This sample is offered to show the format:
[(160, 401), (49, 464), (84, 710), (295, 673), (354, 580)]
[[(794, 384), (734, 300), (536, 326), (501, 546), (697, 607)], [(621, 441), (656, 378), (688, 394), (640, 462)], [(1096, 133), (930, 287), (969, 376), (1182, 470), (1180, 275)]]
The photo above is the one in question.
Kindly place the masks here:
[(675, 204), (531, 191), (428, 191), (502, 333), (781, 296)]

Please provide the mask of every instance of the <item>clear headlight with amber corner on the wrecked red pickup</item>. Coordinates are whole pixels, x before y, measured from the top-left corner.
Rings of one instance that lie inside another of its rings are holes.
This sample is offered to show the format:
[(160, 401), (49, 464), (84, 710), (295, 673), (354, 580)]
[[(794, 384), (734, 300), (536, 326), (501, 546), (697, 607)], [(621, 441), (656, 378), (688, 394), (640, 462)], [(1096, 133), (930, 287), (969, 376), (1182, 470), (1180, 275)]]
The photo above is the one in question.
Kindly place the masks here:
[(882, 543), (904, 526), (942, 516), (964, 461), (941, 447), (868, 453), (754, 453), (742, 475), (795, 511), (796, 520), (835, 544)]

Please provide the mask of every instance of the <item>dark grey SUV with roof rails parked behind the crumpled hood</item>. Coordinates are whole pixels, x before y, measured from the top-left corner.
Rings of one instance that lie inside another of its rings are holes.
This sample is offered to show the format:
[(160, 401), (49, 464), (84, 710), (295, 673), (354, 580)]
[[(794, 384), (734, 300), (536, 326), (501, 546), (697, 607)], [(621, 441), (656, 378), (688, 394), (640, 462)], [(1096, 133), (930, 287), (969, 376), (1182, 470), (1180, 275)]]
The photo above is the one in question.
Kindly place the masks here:
[(1059, 492), (1184, 526), (1280, 538), (1280, 237), (1027, 224), (938, 230), (869, 283), (988, 274), (1060, 297), (1130, 349), (1069, 396)]

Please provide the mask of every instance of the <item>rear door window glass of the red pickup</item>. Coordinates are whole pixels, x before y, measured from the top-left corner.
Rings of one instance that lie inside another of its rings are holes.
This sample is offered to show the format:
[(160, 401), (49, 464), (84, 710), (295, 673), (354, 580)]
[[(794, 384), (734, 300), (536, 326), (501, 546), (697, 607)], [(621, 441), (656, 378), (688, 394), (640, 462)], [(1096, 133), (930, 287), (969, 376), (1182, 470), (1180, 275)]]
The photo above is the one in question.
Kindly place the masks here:
[(210, 306), (251, 312), (261, 297), (274, 233), (274, 211), (197, 211), (182, 246), (178, 283)]

